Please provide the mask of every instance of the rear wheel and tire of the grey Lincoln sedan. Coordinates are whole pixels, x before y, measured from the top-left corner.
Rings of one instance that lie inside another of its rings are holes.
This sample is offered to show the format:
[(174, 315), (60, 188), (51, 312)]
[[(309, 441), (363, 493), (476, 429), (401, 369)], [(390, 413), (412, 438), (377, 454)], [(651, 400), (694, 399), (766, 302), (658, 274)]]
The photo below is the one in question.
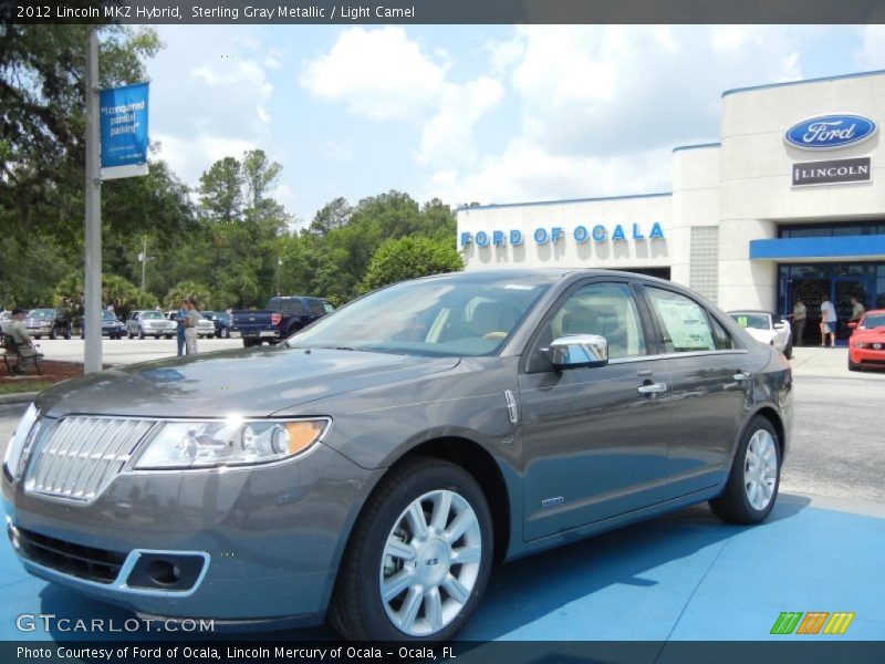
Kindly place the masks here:
[[(761, 463), (752, 464), (752, 459), (748, 458), (752, 452), (757, 453), (753, 456), (763, 455)], [(751, 466), (758, 468), (759, 474)], [(750, 484), (751, 479), (756, 489)], [(741, 434), (726, 488), (719, 497), (710, 500), (710, 508), (717, 517), (729, 523), (759, 523), (771, 513), (780, 484), (781, 448), (778, 433), (771, 422), (757, 415)]]

